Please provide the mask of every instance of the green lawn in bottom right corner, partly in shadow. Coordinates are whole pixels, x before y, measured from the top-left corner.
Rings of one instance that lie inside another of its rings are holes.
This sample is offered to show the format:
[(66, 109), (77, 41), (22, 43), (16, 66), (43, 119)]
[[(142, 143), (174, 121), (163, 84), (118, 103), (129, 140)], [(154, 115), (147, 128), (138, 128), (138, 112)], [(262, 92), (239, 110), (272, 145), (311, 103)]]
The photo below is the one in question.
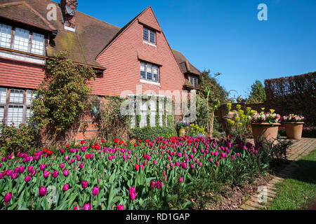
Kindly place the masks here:
[(297, 161), (290, 179), (277, 183), (277, 196), (269, 210), (309, 209), (316, 202), (316, 150)]

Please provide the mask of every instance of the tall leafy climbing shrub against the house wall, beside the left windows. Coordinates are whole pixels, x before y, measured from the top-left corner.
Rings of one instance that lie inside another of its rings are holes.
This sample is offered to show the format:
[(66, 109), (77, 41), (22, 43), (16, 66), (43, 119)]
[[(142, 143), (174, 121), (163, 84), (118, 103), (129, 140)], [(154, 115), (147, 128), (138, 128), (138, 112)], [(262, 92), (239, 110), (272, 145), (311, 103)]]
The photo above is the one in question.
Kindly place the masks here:
[[(64, 141), (68, 131), (79, 124), (88, 106), (91, 88), (88, 81), (95, 77), (89, 66), (79, 65), (60, 52), (48, 59), (45, 78), (32, 102), (31, 122), (44, 130), (46, 139)], [(68, 142), (72, 133), (68, 135)]]

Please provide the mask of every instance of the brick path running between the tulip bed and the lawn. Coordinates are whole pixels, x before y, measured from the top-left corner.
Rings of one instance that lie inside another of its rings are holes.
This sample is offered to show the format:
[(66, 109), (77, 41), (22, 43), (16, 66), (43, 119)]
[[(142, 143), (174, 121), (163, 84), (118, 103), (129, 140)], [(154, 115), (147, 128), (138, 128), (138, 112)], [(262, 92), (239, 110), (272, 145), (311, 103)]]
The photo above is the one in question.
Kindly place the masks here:
[[(303, 156), (308, 155), (311, 151), (316, 149), (316, 139), (301, 139), (300, 141), (295, 141), (294, 144), (287, 151), (287, 159), (292, 161), (287, 167), (282, 169), (281, 172), (274, 176), (274, 178), (267, 183), (266, 186), (256, 192), (255, 195), (252, 195), (249, 200), (244, 202), (241, 207), (237, 210), (257, 210), (257, 209), (265, 209), (268, 207), (270, 202), (277, 195), (275, 187), (276, 183), (282, 182), (286, 178), (290, 178), (291, 174), (298, 167), (296, 165), (296, 160), (301, 159)], [(263, 201), (263, 195), (266, 195), (266, 203)], [(260, 203), (261, 202), (261, 203)]]

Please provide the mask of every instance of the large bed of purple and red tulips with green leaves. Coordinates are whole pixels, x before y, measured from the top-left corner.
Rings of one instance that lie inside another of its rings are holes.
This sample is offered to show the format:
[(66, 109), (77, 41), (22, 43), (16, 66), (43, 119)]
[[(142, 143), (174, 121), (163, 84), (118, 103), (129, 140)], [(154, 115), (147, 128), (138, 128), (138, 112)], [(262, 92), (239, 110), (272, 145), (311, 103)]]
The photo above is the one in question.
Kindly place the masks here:
[[(168, 209), (174, 189), (241, 183), (267, 169), (267, 156), (240, 137), (156, 138), (130, 147), (119, 139), (110, 146), (81, 141), (18, 153), (1, 159), (0, 209)], [(180, 209), (190, 208), (181, 200)]]

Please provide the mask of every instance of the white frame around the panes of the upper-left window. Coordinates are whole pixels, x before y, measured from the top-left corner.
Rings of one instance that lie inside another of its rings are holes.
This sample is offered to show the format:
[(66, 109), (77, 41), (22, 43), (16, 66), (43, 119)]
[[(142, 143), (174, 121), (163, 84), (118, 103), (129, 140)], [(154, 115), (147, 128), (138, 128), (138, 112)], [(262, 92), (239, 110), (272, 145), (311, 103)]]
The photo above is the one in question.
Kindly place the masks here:
[[(40, 32), (40, 31), (34, 31), (32, 29), (27, 29), (27, 28), (23, 27), (22, 25), (20, 25), (20, 26), (19, 25), (8, 25), (8, 24), (6, 24), (4, 22), (0, 22), (0, 24), (1, 25), (6, 25), (8, 27), (11, 27), (11, 43), (10, 43), (10, 47), (9, 48), (1, 47), (1, 48), (16, 50), (18, 52), (27, 52), (27, 53), (30, 53), (32, 55), (46, 56), (46, 46), (47, 46), (47, 36), (46, 36), (46, 34), (44, 34), (43, 32)], [(17, 50), (17, 49), (14, 48), (14, 45), (15, 45), (15, 29), (17, 29), (17, 28), (29, 31), (27, 51)], [(33, 34), (39, 34), (39, 35), (42, 35), (44, 37), (43, 38), (43, 52), (41, 54), (37, 54), (37, 53), (32, 52)]]

